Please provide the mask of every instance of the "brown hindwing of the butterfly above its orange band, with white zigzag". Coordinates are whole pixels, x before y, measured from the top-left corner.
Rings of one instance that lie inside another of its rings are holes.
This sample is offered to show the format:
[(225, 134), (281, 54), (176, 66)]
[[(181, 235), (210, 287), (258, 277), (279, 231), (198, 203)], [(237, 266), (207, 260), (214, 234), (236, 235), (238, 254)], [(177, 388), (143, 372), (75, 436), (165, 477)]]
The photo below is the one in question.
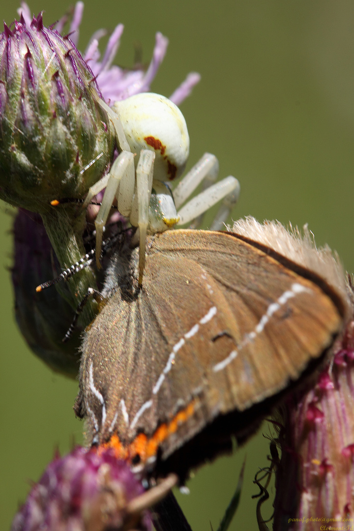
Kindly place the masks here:
[[(225, 328), (219, 311), (193, 334), (193, 327), (220, 304), (204, 275), (200, 265), (184, 257), (148, 255), (137, 298), (125, 301), (117, 290), (94, 320), (83, 342), (80, 373), (88, 422), (92, 434), (98, 432), (98, 442), (113, 432), (124, 444), (140, 430), (152, 435), (202, 392), (204, 365), (219, 351), (212, 339)], [(234, 319), (228, 327), (239, 335)], [(188, 332), (193, 336), (188, 338)], [(207, 356), (203, 363), (198, 349)]]

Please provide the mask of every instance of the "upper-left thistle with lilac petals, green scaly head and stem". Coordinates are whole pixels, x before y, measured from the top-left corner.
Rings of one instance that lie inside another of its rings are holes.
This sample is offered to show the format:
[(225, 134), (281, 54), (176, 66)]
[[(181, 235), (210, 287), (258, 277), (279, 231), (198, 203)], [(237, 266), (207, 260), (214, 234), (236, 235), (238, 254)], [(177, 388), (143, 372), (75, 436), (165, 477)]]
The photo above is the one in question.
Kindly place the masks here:
[[(148, 90), (166, 52), (167, 39), (157, 34), (153, 59), (146, 71), (111, 66), (122, 35), (118, 25), (100, 61), (94, 34), (85, 59), (75, 47), (83, 3), (73, 12), (70, 39), (62, 37), (67, 17), (45, 28), (42, 15), (31, 15), (22, 4), (20, 21), (0, 35), (0, 198), (38, 212), (44, 221), (61, 267), (70, 267), (84, 254), (85, 213), (73, 204), (52, 208), (50, 201), (81, 199), (109, 169), (114, 157), (115, 133), (100, 105)], [(90, 65), (92, 69), (90, 68)], [(102, 92), (98, 81), (102, 84)], [(198, 81), (191, 74), (174, 93), (180, 102)], [(69, 284), (70, 303), (96, 287), (90, 268)], [(93, 300), (84, 320), (93, 317)]]

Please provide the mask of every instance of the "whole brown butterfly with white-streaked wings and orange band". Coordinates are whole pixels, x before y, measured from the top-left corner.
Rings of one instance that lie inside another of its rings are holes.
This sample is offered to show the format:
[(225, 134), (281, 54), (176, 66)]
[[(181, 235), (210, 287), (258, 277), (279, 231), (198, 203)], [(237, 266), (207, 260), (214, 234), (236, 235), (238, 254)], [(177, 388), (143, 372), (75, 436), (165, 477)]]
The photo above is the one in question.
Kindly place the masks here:
[(274, 222), (171, 230), (117, 246), (81, 347), (76, 415), (89, 443), (142, 474), (185, 477), (232, 449), (316, 366), (348, 315), (345, 277)]

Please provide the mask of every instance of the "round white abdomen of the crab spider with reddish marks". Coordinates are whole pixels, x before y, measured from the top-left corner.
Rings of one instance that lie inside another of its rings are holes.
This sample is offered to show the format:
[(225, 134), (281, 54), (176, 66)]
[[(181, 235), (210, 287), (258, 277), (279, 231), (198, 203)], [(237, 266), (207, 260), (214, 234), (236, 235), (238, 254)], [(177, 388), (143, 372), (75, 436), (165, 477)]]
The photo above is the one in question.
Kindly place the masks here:
[(159, 94), (145, 92), (117, 101), (113, 110), (119, 115), (129, 147), (156, 152), (153, 178), (170, 181), (179, 177), (189, 155), (187, 124), (179, 108)]

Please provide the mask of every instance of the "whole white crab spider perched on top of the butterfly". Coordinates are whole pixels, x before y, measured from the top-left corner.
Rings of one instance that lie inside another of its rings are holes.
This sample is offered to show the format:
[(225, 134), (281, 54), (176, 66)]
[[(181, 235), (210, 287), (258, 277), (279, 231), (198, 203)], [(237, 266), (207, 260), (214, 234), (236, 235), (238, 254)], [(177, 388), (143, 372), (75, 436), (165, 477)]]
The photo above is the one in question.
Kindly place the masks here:
[[(83, 208), (106, 188), (95, 221), (98, 265), (103, 227), (115, 198), (118, 211), (129, 219), (133, 227), (139, 228), (136, 237), (139, 237), (140, 245), (141, 285), (146, 235), (188, 224), (223, 199), (211, 227), (221, 228), (238, 198), (239, 183), (235, 177), (229, 176), (213, 184), (218, 176), (218, 160), (205, 153), (172, 195), (165, 181), (183, 173), (189, 154), (187, 125), (178, 107), (164, 96), (153, 93), (141, 93), (118, 101), (112, 109), (102, 101), (100, 105), (114, 124), (120, 153), (110, 172), (91, 186)], [(204, 190), (179, 209), (202, 181)]]

